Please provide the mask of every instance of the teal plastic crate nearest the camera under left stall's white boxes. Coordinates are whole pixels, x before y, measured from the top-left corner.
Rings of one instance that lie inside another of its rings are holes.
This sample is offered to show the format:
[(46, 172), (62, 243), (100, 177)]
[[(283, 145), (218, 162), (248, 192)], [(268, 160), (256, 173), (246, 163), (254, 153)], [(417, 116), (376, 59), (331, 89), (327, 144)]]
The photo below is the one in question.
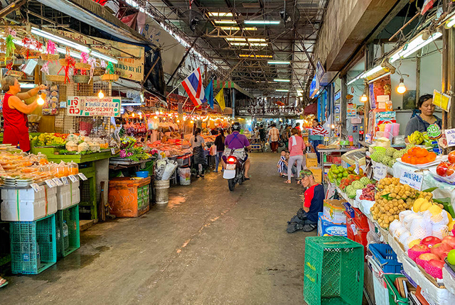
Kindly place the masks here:
[[(38, 221), (9, 224), (11, 271), (13, 274), (38, 275), (57, 262), (55, 214)], [(38, 247), (41, 263), (37, 261)]]

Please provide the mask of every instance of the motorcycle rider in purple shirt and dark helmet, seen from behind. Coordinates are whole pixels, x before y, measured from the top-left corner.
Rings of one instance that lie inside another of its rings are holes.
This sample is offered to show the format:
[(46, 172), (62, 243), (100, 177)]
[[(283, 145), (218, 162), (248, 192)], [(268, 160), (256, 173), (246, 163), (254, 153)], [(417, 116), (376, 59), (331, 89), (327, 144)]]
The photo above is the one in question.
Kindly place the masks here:
[[(225, 158), (229, 157), (231, 150), (234, 150), (232, 155), (235, 155), (235, 157), (238, 157), (241, 160), (245, 160), (245, 180), (250, 180), (250, 176), (248, 176), (248, 171), (250, 170), (250, 159), (245, 151), (246, 148), (248, 152), (250, 152), (250, 141), (245, 135), (240, 134), (240, 123), (233, 123), (231, 128), (232, 133), (225, 139), (225, 153), (223, 155)], [(223, 165), (223, 167), (225, 167), (225, 165)]]

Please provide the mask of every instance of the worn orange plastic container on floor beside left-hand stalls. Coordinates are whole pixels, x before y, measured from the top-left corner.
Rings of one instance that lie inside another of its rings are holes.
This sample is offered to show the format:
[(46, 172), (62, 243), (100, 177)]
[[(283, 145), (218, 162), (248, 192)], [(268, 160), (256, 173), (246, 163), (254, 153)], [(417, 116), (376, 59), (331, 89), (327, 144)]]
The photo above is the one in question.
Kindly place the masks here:
[(151, 178), (113, 178), (109, 181), (110, 213), (117, 217), (139, 217), (149, 211), (149, 184)]

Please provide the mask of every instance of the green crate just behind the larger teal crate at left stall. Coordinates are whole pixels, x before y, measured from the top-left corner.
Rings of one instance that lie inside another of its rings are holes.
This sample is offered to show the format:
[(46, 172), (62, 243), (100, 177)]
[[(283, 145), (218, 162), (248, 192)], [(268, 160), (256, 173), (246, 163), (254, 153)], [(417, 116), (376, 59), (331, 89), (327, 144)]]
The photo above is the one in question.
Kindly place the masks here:
[[(79, 230), (79, 206), (71, 206), (68, 209), (57, 211), (56, 218), (56, 235), (57, 235), (57, 255), (65, 257), (80, 248), (80, 230)], [(68, 238), (70, 245), (65, 250), (63, 242), (63, 221), (66, 221), (68, 226)]]

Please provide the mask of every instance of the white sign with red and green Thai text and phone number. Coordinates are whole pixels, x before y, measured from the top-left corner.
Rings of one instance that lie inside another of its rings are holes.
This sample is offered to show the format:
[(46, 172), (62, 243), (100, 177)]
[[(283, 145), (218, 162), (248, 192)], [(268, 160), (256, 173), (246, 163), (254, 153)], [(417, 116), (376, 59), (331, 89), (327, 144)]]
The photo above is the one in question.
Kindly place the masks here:
[(120, 116), (122, 98), (106, 96), (68, 96), (66, 114), (68, 116)]

